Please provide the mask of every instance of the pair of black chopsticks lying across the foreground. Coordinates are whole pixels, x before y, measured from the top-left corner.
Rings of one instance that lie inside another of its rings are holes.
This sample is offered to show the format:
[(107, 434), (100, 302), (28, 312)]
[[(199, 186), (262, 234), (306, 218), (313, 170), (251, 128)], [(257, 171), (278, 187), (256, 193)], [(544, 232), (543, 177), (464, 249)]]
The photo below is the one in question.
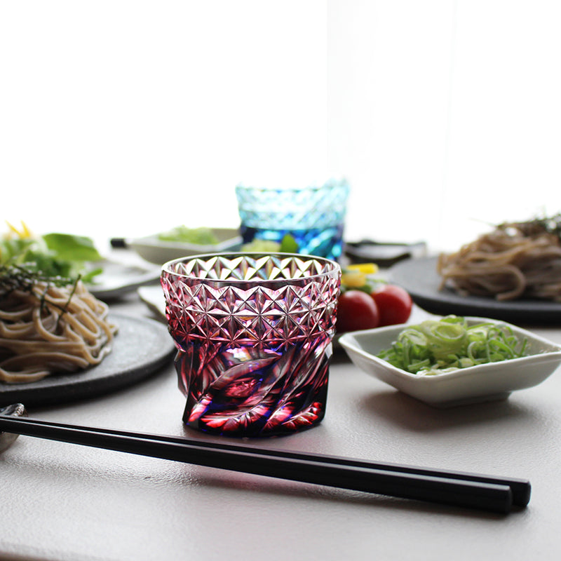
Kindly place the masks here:
[(0, 415), (0, 431), (498, 513), (508, 513), (513, 506), (526, 506), (530, 496), (527, 480), (50, 423), (25, 417)]

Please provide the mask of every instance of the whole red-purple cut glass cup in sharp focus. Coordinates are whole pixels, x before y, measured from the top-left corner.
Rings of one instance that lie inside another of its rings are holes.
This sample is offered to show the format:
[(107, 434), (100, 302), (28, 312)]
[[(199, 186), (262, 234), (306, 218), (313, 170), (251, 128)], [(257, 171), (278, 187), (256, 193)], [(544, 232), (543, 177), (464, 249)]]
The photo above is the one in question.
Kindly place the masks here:
[(163, 265), (187, 426), (292, 433), (325, 415), (341, 269), (321, 257), (230, 253)]

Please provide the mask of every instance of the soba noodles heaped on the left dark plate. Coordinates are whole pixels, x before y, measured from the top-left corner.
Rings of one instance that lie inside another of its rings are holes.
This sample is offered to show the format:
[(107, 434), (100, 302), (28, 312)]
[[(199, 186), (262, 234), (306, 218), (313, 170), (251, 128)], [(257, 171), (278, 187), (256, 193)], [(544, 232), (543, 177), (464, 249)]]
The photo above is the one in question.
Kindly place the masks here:
[(0, 380), (36, 381), (101, 362), (116, 326), (108, 307), (81, 283), (30, 283), (0, 295)]

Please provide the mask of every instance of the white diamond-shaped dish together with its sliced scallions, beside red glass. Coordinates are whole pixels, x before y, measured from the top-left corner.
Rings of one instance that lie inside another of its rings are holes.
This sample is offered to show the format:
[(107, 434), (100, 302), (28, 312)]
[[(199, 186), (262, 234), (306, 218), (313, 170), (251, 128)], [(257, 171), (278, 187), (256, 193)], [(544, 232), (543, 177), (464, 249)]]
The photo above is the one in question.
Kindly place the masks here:
[(475, 316), (350, 332), (339, 344), (370, 376), (435, 407), (506, 399), (561, 364), (561, 346)]

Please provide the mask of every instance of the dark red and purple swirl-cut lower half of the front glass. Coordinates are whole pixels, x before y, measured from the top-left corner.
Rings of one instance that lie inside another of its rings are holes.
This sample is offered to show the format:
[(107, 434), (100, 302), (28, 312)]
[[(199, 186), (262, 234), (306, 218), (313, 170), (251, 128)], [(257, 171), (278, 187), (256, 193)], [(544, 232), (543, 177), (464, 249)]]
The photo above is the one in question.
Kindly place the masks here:
[(251, 437), (315, 426), (325, 414), (330, 353), (327, 337), (280, 351), (203, 343), (178, 351), (183, 420), (201, 431)]

